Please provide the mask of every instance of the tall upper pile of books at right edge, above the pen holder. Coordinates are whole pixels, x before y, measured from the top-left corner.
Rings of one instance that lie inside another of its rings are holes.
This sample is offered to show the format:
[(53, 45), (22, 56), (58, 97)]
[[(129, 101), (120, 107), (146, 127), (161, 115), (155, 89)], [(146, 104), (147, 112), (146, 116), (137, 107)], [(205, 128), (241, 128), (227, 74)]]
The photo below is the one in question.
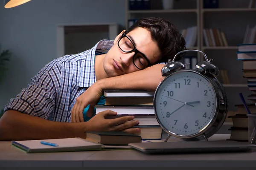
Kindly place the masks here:
[(237, 58), (243, 63), (244, 78), (247, 78), (247, 86), (252, 94), (248, 100), (256, 101), (256, 44), (239, 44)]

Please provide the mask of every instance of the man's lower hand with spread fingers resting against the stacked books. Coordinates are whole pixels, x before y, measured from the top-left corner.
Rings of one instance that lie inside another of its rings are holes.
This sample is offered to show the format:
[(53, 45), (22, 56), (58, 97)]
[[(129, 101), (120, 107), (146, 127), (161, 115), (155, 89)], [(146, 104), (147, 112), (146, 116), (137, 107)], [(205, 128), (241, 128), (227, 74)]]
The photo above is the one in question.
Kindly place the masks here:
[(123, 116), (116, 119), (105, 119), (105, 116), (115, 116), (117, 113), (106, 110), (102, 111), (93, 118), (91, 118), (87, 123), (87, 131), (124, 131), (127, 133), (140, 134), (140, 128), (131, 128), (133, 126), (139, 125), (139, 121), (132, 121), (134, 116)]

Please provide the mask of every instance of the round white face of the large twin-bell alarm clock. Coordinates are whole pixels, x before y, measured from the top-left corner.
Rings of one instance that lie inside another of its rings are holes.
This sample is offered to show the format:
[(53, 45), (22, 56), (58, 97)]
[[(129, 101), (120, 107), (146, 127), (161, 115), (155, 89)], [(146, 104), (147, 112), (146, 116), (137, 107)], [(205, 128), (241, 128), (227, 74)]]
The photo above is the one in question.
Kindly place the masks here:
[(179, 71), (157, 88), (154, 109), (160, 125), (177, 136), (193, 136), (209, 125), (216, 111), (211, 83), (195, 71)]

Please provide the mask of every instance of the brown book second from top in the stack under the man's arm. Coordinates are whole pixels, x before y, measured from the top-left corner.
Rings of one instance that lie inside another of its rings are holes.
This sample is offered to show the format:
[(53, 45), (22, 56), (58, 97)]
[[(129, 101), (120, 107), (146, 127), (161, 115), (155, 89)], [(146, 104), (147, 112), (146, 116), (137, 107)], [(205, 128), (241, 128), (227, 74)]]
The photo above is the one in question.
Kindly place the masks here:
[(153, 97), (106, 97), (105, 105), (152, 105)]

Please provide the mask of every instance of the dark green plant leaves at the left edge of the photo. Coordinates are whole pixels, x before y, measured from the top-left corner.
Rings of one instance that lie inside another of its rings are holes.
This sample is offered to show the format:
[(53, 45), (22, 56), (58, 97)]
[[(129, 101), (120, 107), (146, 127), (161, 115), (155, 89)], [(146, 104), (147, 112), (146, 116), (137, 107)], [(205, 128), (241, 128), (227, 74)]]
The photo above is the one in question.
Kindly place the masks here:
[(3, 81), (3, 77), (6, 74), (7, 62), (10, 61), (11, 52), (9, 50), (4, 50), (0, 53), (0, 83)]

